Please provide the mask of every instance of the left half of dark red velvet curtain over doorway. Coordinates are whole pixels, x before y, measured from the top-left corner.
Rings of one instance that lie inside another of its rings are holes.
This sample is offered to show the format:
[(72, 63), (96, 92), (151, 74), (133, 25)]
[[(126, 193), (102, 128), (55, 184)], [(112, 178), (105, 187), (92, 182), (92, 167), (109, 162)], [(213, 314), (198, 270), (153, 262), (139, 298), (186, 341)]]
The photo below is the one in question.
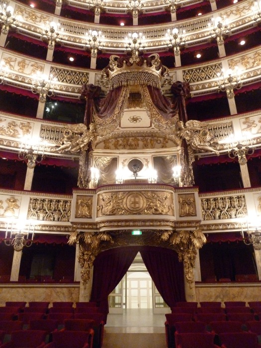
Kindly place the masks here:
[(137, 248), (114, 248), (100, 253), (93, 263), (90, 301), (98, 302), (101, 312), (109, 313), (108, 296), (129, 269)]

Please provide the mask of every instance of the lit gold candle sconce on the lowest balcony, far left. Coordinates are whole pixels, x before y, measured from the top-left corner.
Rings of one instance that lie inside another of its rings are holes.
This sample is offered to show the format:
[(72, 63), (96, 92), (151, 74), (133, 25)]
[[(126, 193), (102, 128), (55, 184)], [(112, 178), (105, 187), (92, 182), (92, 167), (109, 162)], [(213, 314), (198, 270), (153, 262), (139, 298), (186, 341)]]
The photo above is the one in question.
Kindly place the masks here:
[[(25, 228), (17, 229), (17, 225), (21, 226), (22, 223), (17, 221), (17, 223), (13, 224), (13, 221), (10, 223), (7, 221), (4, 244), (6, 246), (12, 246), (16, 252), (19, 252), (23, 249), (23, 247), (31, 247), (33, 244), (34, 230), (35, 225), (31, 226), (31, 221), (28, 225), (28, 230)], [(26, 231), (27, 232), (23, 232)], [(30, 237), (31, 234), (31, 238)]]

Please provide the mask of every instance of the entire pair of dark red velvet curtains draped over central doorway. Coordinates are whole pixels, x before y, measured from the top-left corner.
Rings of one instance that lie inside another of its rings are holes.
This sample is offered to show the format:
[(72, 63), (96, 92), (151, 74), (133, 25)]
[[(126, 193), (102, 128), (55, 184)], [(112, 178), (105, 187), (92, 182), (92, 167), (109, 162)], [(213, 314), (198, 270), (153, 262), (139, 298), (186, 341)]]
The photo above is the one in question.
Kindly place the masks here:
[(90, 301), (98, 302), (104, 314), (109, 312), (109, 294), (121, 281), (138, 252), (168, 306), (185, 301), (183, 263), (178, 261), (174, 251), (141, 246), (114, 248), (100, 253), (93, 263)]

